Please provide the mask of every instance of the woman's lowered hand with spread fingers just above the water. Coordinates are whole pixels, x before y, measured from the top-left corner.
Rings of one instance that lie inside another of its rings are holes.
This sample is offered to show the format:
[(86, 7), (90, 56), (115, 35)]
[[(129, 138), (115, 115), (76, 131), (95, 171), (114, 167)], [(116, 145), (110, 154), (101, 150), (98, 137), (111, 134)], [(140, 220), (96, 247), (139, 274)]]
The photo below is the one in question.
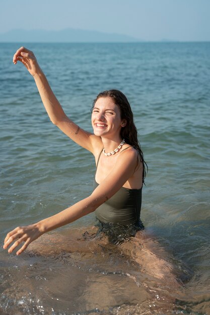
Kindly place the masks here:
[(7, 234), (3, 248), (6, 250), (15, 241), (15, 243), (13, 243), (13, 245), (8, 250), (8, 253), (12, 253), (16, 247), (25, 242), (16, 253), (17, 255), (20, 255), (23, 251), (25, 251), (31, 242), (38, 239), (42, 234), (43, 232), (40, 231), (39, 225), (37, 223), (16, 227)]

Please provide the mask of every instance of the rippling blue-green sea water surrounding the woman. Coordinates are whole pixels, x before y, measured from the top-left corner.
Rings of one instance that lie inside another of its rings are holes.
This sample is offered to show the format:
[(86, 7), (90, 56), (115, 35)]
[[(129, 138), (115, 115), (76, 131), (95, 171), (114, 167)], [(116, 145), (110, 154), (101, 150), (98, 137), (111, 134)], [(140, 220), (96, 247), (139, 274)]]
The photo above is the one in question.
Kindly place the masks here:
[[(210, 43), (26, 47), (35, 52), (66, 114), (86, 130), (100, 91), (115, 88), (127, 96), (149, 166), (141, 218), (183, 283), (178, 292), (161, 285), (116, 248), (83, 253), (95, 242), (86, 240), (83, 248), (78, 241), (95, 225), (92, 213), (58, 236), (51, 233), (58, 240), (72, 229), (77, 237), (68, 242), (81, 246), (81, 253), (55, 253), (59, 245), (53, 241), (46, 255), (28, 250), (16, 257), (0, 250), (1, 313), (209, 314)], [(0, 44), (2, 244), (17, 225), (88, 196), (95, 170), (93, 156), (50, 123), (23, 65), (13, 65), (18, 48)], [(173, 312), (157, 298), (166, 293)]]

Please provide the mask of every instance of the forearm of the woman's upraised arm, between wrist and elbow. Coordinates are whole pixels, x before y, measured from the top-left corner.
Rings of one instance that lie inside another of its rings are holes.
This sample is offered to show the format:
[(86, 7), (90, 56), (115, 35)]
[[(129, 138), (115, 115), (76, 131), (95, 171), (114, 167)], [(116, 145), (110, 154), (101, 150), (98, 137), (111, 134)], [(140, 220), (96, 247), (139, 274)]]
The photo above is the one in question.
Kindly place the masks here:
[(63, 117), (65, 117), (65, 113), (52, 92), (45, 74), (41, 68), (39, 69), (40, 70), (33, 77), (51, 122), (57, 124)]

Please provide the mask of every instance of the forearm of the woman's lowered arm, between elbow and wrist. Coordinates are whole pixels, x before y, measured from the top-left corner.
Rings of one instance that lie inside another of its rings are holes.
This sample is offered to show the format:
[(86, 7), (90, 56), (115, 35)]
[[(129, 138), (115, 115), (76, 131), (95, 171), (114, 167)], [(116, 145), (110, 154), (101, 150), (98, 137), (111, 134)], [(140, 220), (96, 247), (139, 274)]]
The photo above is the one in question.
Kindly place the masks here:
[(77, 219), (93, 212), (97, 206), (90, 200), (91, 198), (85, 198), (73, 206), (66, 208), (65, 210), (43, 219), (37, 223), (40, 232), (46, 233), (55, 228), (69, 224)]

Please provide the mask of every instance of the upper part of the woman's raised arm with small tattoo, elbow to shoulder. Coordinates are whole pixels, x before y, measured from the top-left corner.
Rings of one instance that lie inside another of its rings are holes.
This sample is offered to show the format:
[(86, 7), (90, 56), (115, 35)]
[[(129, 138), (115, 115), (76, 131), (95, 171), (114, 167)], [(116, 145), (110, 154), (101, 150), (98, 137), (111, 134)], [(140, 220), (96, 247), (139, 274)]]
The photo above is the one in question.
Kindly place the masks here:
[(62, 120), (59, 120), (56, 123), (56, 126), (69, 138), (71, 138), (77, 144), (81, 145), (93, 154), (95, 153), (96, 148), (103, 147), (101, 137), (98, 137), (91, 132), (81, 129), (66, 115), (63, 116)]

